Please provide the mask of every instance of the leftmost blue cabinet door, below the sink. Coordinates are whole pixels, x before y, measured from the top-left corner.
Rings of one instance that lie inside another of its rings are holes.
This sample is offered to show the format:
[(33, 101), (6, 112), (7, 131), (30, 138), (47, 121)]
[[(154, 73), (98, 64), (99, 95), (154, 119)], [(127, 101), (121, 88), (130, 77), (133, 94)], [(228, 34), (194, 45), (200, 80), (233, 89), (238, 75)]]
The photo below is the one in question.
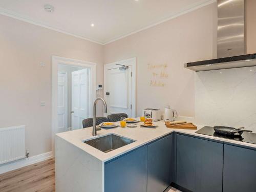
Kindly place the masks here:
[(146, 146), (105, 164), (105, 192), (146, 192)]

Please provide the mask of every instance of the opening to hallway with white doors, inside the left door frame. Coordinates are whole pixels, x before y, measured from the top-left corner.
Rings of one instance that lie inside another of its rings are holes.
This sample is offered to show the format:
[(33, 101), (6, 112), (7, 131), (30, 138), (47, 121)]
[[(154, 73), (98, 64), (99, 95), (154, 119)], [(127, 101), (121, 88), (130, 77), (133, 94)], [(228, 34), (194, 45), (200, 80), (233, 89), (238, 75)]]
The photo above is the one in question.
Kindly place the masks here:
[(90, 68), (58, 65), (58, 132), (82, 128), (90, 113)]

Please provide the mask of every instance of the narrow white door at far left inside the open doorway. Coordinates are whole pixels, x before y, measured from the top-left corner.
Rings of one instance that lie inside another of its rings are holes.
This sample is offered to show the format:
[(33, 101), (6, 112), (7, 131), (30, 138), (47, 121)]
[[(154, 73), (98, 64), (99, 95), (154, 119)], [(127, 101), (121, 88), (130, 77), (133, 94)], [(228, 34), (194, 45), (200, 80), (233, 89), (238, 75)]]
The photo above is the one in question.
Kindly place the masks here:
[(68, 74), (58, 72), (58, 133), (67, 131), (68, 127)]

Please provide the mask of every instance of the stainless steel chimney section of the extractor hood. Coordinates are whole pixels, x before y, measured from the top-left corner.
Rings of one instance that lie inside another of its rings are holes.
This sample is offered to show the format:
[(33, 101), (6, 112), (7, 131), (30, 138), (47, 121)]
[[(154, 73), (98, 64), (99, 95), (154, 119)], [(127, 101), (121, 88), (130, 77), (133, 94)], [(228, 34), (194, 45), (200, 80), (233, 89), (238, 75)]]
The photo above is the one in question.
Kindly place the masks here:
[(217, 2), (217, 57), (244, 55), (244, 0)]

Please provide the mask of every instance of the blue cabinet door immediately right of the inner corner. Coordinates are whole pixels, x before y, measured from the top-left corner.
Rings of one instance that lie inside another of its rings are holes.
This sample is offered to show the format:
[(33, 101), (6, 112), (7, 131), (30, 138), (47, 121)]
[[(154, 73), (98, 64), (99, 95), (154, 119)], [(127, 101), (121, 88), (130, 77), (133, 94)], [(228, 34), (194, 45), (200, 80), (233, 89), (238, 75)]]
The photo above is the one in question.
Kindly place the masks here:
[(223, 144), (177, 134), (176, 183), (194, 192), (221, 192)]

